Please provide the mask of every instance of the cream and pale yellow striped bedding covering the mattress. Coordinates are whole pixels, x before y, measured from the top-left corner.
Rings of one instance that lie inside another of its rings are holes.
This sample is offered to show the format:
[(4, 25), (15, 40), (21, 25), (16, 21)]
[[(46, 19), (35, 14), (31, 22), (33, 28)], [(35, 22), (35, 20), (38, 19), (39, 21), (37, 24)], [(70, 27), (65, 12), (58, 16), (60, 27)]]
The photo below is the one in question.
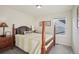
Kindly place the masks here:
[[(17, 34), (16, 46), (29, 53), (40, 53), (41, 50), (41, 34), (39, 33), (28, 33), (25, 35)], [(51, 34), (46, 34), (46, 42), (52, 38)], [(47, 47), (47, 46), (46, 46)]]

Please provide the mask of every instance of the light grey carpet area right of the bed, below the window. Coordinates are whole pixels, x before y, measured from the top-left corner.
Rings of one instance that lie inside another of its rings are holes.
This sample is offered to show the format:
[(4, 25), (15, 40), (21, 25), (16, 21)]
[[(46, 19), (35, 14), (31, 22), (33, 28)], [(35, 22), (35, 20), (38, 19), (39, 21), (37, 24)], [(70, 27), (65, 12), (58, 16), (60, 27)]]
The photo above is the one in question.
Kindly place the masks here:
[(49, 54), (74, 54), (74, 52), (70, 46), (57, 44), (50, 50)]

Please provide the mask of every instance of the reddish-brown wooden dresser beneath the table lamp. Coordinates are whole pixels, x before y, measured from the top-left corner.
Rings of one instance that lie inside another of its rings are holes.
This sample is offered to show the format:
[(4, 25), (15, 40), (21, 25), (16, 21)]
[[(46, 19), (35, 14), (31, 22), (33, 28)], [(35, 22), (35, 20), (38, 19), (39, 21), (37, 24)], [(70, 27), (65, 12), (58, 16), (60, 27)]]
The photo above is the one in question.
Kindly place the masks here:
[(13, 38), (12, 36), (0, 36), (0, 52), (6, 49), (13, 48)]

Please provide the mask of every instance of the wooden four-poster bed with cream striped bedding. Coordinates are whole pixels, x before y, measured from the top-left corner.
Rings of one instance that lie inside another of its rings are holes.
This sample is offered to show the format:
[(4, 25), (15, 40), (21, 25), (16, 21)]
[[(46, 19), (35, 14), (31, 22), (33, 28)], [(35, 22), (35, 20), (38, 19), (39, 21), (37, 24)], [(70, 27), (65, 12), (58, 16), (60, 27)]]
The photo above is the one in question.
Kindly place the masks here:
[(51, 47), (55, 46), (55, 36), (51, 34), (44, 36), (44, 30), (42, 33), (36, 33), (27, 26), (20, 26), (15, 31), (13, 31), (15, 32), (15, 45), (30, 54), (48, 53)]

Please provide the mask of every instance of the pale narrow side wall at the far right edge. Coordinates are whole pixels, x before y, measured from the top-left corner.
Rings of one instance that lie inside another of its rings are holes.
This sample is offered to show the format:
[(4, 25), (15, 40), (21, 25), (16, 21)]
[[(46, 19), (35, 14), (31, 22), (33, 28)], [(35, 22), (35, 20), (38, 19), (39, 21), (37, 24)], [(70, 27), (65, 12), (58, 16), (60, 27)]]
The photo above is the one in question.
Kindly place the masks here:
[(75, 53), (79, 53), (79, 32), (77, 28), (77, 7), (74, 6), (73, 11), (72, 11), (72, 48)]

